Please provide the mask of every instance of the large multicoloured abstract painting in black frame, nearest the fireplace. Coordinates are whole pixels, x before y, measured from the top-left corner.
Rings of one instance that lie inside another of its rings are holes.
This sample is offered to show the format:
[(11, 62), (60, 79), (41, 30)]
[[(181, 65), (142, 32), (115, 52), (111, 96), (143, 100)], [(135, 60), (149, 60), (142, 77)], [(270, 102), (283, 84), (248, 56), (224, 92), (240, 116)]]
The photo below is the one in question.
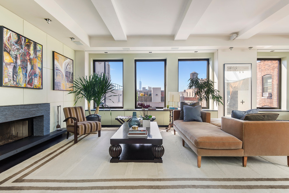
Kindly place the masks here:
[(42, 45), (0, 26), (3, 87), (42, 89)]

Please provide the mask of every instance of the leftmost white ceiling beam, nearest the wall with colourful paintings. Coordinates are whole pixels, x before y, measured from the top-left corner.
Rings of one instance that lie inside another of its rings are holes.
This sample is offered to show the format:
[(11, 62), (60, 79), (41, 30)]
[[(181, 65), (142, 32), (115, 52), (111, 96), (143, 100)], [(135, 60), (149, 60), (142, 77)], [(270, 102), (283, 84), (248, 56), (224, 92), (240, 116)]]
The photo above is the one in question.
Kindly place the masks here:
[(80, 41), (90, 46), (88, 34), (54, 0), (34, 1), (39, 4), (43, 9), (45, 9), (49, 14), (51, 14), (62, 25), (64, 25), (69, 31), (76, 35), (76, 37), (78, 37)]

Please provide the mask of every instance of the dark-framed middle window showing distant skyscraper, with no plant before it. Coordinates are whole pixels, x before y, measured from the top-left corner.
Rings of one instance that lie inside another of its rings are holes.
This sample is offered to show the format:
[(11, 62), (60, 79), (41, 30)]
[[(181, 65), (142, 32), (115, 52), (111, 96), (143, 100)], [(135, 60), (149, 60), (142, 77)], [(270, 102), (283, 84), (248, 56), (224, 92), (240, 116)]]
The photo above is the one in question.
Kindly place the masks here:
[(146, 102), (152, 107), (166, 105), (166, 60), (135, 60), (135, 108)]

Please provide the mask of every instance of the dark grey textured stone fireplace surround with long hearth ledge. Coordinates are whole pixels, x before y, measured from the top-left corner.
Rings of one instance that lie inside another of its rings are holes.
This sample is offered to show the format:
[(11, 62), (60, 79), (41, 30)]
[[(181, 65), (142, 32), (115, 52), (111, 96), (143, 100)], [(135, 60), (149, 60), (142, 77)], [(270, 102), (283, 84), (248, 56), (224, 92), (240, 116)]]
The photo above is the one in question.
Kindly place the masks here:
[[(0, 123), (33, 118), (33, 136), (0, 147), (0, 160), (62, 135), (67, 130), (50, 132), (50, 103), (0, 106)], [(56, 129), (56, 128), (55, 128)]]

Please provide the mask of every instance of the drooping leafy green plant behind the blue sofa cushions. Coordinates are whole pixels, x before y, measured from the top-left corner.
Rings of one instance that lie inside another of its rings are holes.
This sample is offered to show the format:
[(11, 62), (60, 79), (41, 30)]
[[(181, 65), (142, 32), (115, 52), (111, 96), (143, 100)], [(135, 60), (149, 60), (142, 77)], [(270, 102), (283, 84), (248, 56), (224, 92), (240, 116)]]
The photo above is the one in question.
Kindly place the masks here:
[(213, 100), (213, 102), (216, 102), (218, 105), (219, 103), (223, 105), (223, 98), (218, 94), (220, 91), (214, 88), (214, 82), (212, 80), (208, 78), (199, 79), (197, 74), (196, 77), (191, 78), (188, 81), (190, 81), (188, 89), (193, 90), (194, 97), (199, 97), (201, 105), (203, 100), (209, 101), (209, 99)]

